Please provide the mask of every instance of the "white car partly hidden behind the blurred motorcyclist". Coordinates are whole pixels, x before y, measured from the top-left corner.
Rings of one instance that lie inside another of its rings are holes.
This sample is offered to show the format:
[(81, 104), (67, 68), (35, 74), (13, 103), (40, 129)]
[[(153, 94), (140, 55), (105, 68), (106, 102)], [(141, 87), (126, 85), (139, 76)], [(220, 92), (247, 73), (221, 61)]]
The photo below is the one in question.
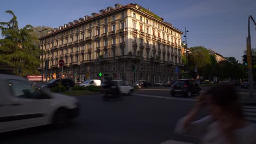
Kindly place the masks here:
[[(119, 88), (119, 91), (121, 94), (132, 94), (133, 93), (133, 87), (126, 84), (125, 81), (122, 80), (112, 80), (114, 85), (117, 85)], [(102, 89), (101, 92), (109, 91), (109, 89), (104, 88), (104, 83), (101, 84)]]

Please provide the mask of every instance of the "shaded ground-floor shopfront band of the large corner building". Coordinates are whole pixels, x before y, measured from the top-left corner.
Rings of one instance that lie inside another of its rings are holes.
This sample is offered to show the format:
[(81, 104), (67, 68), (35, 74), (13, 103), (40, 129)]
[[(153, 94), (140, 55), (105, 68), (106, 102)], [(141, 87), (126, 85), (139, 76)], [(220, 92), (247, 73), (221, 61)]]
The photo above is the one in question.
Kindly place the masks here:
[(181, 77), (181, 69), (182, 65), (171, 62), (152, 62), (149, 59), (127, 56), (64, 64), (63, 68), (53, 65), (48, 70), (48, 74), (51, 79), (59, 79), (62, 74), (62, 78), (73, 79), (75, 82), (88, 79), (106, 81), (111, 77), (132, 85), (137, 80), (146, 80), (151, 83), (176, 80)]

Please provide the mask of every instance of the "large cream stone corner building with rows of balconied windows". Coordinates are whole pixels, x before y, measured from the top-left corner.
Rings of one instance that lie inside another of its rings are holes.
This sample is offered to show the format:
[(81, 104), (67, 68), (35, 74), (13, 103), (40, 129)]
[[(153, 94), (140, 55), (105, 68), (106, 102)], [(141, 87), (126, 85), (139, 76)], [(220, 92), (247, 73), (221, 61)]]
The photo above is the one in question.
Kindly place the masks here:
[(40, 38), (41, 58), (49, 61), (50, 75), (75, 81), (176, 80), (183, 66), (182, 34), (138, 4), (115, 4), (47, 32)]

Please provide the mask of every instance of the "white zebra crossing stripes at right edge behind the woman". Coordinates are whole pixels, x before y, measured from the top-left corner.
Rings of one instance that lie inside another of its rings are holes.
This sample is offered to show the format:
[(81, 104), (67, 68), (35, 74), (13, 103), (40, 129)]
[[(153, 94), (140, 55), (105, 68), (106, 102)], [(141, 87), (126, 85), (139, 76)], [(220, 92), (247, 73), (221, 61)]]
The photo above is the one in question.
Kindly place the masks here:
[(243, 114), (245, 115), (246, 122), (256, 124), (256, 106), (244, 105)]

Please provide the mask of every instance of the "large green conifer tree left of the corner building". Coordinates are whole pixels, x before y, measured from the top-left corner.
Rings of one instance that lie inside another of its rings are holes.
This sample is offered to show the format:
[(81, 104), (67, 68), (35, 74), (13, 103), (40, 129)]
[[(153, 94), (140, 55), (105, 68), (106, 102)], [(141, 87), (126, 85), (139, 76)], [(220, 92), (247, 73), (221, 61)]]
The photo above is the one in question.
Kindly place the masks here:
[[(0, 22), (0, 30), (3, 39), (0, 39), (0, 63), (22, 68), (22, 74), (39, 74), (38, 47), (33, 43), (37, 38), (30, 33), (33, 32), (31, 25), (19, 29), (16, 15), (11, 10), (5, 11), (13, 16), (9, 22)], [(22, 61), (22, 63), (21, 63)]]

